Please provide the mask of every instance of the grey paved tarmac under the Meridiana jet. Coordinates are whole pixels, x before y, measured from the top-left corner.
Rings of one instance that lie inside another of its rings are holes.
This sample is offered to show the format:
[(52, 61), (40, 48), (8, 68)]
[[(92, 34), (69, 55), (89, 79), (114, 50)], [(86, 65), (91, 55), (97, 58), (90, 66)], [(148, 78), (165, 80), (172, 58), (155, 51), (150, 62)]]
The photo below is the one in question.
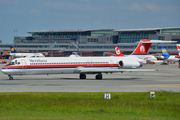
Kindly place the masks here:
[[(5, 64), (0, 64), (0, 69)], [(141, 69), (141, 68), (140, 68)], [(180, 69), (177, 64), (144, 65), (142, 69), (159, 69), (155, 72), (124, 72), (103, 74), (102, 80), (79, 74), (52, 74), (13, 76), (0, 72), (0, 92), (180, 92)]]

